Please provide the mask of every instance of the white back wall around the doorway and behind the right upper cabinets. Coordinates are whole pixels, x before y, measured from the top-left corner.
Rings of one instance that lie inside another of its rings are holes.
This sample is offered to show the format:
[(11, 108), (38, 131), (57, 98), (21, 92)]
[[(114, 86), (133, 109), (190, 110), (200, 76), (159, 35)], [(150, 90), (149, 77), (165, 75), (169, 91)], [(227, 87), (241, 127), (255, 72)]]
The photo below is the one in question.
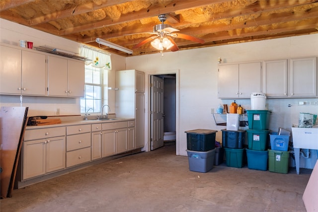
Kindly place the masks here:
[[(218, 130), (217, 140), (221, 140), (222, 126), (216, 126), (211, 115), (211, 108), (220, 103), (230, 105), (233, 100), (218, 99), (217, 76), (218, 57), (223, 63), (248, 62), (306, 57), (318, 55), (318, 34), (291, 38), (231, 44), (225, 46), (184, 50), (152, 54), (126, 59), (127, 69), (146, 72), (146, 86), (150, 74), (179, 72), (179, 106), (177, 114), (177, 154), (187, 155), (187, 130), (215, 129)], [(146, 118), (149, 113), (149, 86), (146, 88)], [(267, 99), (268, 107), (273, 111), (270, 130), (278, 131), (279, 127), (291, 131), (292, 124), (298, 123), (299, 112), (318, 113), (317, 106), (298, 106), (300, 99)], [(302, 99), (306, 100), (306, 99)], [(309, 100), (309, 99), (308, 99)], [(318, 100), (318, 98), (310, 99)], [(237, 99), (242, 107), (250, 109), (250, 99)], [(292, 104), (288, 107), (287, 104)], [(149, 141), (149, 126), (146, 125), (146, 141)], [(313, 153), (314, 155), (316, 152)]]

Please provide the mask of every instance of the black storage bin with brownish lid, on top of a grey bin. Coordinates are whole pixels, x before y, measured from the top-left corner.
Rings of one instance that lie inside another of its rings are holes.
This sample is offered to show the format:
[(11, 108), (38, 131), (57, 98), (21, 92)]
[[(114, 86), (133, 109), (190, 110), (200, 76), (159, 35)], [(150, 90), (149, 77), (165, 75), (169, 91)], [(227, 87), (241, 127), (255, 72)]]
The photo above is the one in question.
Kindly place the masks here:
[(187, 134), (187, 149), (192, 151), (209, 151), (215, 148), (216, 130), (190, 130)]

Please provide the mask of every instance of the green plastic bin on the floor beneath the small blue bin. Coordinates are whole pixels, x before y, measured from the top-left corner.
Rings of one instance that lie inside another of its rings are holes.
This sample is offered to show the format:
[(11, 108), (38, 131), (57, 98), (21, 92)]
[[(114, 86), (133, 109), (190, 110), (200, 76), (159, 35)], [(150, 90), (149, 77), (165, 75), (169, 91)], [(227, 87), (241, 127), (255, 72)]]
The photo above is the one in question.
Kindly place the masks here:
[(268, 149), (268, 170), (270, 172), (288, 173), (289, 151)]

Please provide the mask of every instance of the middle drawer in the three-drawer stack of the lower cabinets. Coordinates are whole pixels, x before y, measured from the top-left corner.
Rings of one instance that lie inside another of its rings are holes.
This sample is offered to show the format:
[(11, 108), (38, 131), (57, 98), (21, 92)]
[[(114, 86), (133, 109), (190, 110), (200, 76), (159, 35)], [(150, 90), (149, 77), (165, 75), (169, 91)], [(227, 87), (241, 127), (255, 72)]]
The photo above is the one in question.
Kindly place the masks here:
[(90, 146), (90, 133), (67, 136), (66, 138), (67, 151), (84, 148), (88, 146)]

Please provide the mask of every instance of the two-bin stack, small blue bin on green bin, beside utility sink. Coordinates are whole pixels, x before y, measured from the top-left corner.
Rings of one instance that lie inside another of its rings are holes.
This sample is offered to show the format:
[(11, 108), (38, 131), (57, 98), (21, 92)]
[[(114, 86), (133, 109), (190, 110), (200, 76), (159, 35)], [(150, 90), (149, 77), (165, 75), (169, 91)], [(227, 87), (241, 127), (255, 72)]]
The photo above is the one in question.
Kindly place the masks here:
[(288, 173), (289, 162), (289, 137), (290, 132), (283, 130), (283, 133), (270, 133), (270, 146), (268, 149), (268, 170), (270, 172)]

